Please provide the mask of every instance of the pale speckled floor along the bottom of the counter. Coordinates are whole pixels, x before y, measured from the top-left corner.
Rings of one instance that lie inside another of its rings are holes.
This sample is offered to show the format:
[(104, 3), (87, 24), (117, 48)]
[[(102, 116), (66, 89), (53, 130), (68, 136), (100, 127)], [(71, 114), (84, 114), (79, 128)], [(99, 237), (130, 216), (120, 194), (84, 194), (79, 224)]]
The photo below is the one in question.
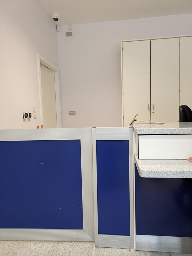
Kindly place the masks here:
[(94, 247), (94, 242), (0, 241), (0, 256), (192, 256)]

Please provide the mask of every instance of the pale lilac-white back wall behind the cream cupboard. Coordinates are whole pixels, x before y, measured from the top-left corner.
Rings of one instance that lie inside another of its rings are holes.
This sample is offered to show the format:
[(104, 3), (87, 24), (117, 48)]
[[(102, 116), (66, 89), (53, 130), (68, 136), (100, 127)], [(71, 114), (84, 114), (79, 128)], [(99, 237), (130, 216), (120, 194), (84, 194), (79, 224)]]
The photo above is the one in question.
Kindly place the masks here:
[(62, 127), (122, 126), (121, 40), (192, 34), (192, 14), (72, 28), (58, 33)]

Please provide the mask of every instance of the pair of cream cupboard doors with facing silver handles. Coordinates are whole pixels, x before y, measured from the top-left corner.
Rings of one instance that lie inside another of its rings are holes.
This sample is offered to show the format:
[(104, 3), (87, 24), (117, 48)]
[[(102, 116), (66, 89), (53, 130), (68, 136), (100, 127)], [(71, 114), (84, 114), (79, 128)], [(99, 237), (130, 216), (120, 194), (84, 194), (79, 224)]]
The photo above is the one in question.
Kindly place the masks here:
[(139, 120), (178, 122), (180, 38), (122, 42), (123, 126)]

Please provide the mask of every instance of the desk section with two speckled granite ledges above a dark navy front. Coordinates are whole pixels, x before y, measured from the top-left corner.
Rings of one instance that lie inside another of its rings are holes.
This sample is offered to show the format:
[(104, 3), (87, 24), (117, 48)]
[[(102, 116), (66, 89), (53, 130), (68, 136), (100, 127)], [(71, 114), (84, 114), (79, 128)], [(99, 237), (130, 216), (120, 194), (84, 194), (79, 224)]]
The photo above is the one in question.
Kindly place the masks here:
[(136, 250), (192, 253), (192, 123), (133, 124)]

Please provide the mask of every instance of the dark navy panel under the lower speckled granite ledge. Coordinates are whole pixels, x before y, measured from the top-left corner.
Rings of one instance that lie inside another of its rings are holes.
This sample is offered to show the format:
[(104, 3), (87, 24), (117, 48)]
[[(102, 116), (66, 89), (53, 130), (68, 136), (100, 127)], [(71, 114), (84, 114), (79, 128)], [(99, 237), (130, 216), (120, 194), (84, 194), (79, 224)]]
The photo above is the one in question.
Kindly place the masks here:
[(142, 178), (135, 165), (136, 235), (192, 237), (192, 179)]

